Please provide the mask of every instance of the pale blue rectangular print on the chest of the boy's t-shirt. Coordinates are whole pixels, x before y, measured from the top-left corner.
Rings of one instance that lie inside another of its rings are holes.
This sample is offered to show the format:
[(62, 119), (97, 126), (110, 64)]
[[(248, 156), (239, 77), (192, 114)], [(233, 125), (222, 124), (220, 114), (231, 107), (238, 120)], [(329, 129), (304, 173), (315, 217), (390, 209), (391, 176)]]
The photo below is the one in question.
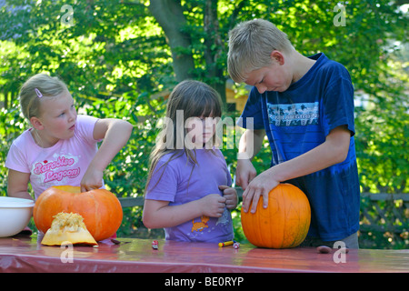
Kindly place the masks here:
[(268, 119), (275, 126), (317, 125), (319, 103), (267, 104)]

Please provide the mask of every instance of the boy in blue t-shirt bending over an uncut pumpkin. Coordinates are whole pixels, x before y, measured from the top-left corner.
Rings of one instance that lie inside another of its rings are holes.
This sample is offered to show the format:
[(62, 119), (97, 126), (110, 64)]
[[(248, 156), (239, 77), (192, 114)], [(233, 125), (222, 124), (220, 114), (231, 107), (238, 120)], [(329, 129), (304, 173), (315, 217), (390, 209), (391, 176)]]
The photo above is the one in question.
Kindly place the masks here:
[[(255, 19), (229, 35), (228, 71), (254, 85), (239, 125), (236, 182), (244, 211), (255, 211), (281, 182), (298, 186), (312, 208), (304, 246), (344, 241), (357, 248), (360, 188), (354, 149), (354, 87), (343, 65), (305, 57), (272, 23)], [(250, 118), (251, 117), (251, 118)], [(267, 135), (271, 167), (256, 175), (252, 158)], [(252, 204), (253, 201), (253, 204)], [(251, 206), (251, 207), (250, 207)]]

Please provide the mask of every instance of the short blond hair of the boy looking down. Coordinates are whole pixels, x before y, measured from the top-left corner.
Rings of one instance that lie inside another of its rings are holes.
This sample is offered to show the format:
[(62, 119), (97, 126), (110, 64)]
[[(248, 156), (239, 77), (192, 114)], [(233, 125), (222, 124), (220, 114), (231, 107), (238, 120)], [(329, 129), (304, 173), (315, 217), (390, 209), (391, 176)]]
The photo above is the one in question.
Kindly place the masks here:
[(228, 73), (234, 82), (243, 82), (246, 74), (272, 63), (274, 50), (289, 53), (293, 49), (288, 36), (271, 22), (243, 22), (229, 32)]

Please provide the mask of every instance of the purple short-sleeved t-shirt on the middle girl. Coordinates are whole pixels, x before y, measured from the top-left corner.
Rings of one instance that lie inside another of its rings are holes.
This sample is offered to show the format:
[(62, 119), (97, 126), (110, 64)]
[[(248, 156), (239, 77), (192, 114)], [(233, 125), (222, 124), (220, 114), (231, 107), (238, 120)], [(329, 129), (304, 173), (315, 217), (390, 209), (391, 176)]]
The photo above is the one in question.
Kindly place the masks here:
[[(231, 186), (232, 178), (220, 150), (214, 149), (214, 154), (206, 149), (196, 149), (199, 165), (195, 165), (193, 172), (193, 163), (187, 161), (185, 154), (180, 156), (178, 153), (178, 157), (161, 167), (172, 154), (163, 156), (155, 167), (145, 199), (169, 201), (169, 206), (177, 206), (209, 194), (223, 196), (218, 186)], [(219, 243), (233, 237), (232, 217), (227, 208), (219, 218), (201, 216), (179, 226), (165, 227), (167, 240)]]

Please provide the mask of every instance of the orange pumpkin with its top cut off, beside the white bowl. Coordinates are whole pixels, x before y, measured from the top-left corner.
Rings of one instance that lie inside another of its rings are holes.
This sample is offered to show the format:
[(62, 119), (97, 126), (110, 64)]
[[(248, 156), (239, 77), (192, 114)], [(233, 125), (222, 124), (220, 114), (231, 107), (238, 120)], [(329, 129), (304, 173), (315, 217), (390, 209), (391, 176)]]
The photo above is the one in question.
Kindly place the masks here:
[(60, 212), (83, 216), (86, 228), (96, 241), (115, 235), (123, 218), (118, 198), (108, 190), (95, 189), (81, 193), (81, 188), (77, 186), (53, 186), (35, 201), (35, 226), (46, 233), (54, 216)]

